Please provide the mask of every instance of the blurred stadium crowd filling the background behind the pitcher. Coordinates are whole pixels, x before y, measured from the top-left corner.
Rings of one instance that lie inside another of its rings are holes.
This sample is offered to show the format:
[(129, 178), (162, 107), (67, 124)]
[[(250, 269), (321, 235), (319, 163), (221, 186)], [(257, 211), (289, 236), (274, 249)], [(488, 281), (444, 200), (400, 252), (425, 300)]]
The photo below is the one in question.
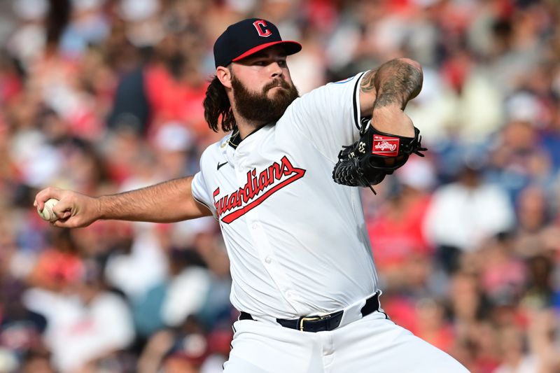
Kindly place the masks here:
[(0, 1), (0, 372), (221, 372), (213, 218), (60, 230), (32, 202), (195, 173), (223, 136), (212, 45), (253, 15), (301, 41), (302, 94), (423, 64), (407, 113), (430, 151), (364, 192), (382, 305), (471, 372), (560, 372), (557, 0)]

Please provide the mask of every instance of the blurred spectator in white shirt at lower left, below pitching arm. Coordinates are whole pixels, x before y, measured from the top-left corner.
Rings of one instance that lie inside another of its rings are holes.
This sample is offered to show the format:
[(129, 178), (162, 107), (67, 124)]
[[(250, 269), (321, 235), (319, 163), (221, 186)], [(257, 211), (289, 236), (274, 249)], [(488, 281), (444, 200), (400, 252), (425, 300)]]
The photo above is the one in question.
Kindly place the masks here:
[(132, 344), (134, 329), (127, 304), (104, 290), (102, 282), (101, 269), (90, 261), (80, 279), (63, 291), (31, 288), (24, 294), (26, 307), (48, 321), (45, 341), (60, 372), (102, 364)]

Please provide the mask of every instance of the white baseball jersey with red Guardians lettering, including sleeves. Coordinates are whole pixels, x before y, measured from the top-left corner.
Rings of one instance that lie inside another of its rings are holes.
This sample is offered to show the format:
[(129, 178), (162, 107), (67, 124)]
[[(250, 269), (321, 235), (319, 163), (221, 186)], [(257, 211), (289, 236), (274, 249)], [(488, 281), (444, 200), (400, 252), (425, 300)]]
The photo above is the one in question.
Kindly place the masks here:
[(276, 124), (204, 151), (193, 197), (219, 220), (231, 302), (253, 316), (332, 312), (377, 290), (360, 188), (332, 181), (358, 138), (363, 73), (293, 101)]

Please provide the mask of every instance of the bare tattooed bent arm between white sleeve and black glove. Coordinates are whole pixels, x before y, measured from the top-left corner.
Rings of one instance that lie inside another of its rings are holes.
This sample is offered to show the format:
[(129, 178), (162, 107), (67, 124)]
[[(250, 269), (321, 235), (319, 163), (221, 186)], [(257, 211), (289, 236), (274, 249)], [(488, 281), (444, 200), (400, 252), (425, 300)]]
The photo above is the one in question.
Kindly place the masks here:
[(365, 73), (360, 86), (360, 109), (372, 115), (381, 132), (414, 136), (412, 120), (403, 112), (422, 88), (422, 67), (412, 59), (391, 59)]

